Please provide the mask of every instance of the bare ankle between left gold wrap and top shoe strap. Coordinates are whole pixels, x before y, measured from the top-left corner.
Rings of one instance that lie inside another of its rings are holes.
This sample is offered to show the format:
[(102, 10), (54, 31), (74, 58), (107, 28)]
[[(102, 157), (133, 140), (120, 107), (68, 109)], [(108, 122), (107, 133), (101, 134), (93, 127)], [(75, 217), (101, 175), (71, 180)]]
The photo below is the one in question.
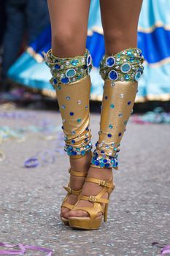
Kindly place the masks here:
[(72, 159), (70, 157), (70, 166), (72, 170), (84, 172), (88, 171), (88, 168), (90, 167), (90, 159), (91, 159), (91, 152), (88, 152), (85, 154), (84, 157)]

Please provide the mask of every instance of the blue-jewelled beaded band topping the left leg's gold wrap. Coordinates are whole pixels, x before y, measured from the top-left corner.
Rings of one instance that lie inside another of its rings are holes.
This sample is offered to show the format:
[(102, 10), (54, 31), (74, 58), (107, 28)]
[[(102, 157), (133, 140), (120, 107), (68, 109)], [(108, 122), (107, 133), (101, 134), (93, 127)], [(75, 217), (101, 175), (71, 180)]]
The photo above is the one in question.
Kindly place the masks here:
[(53, 78), (50, 83), (54, 89), (61, 89), (61, 84), (74, 83), (90, 74), (93, 67), (92, 58), (88, 49), (84, 56), (74, 58), (58, 58), (53, 55), (52, 50), (44, 53), (45, 63), (50, 67)]

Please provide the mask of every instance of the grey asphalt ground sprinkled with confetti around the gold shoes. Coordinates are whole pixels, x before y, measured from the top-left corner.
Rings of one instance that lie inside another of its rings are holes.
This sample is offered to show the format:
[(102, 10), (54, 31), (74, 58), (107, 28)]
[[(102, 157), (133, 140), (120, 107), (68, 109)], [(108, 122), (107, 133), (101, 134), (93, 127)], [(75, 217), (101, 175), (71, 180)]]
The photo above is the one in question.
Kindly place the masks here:
[[(21, 120), (0, 118), (0, 126), (27, 127), (45, 118), (60, 124), (59, 113), (32, 113), (33, 117)], [(93, 141), (98, 121), (99, 115), (93, 114)], [(57, 154), (53, 164), (23, 167), (24, 160), (38, 151), (54, 150), (56, 141), (26, 132), (23, 142), (2, 143), (6, 159), (0, 162), (0, 242), (46, 246), (54, 250), (53, 255), (160, 255), (161, 249), (152, 243), (170, 244), (169, 125), (129, 123), (127, 128), (109, 219), (96, 231), (72, 230), (61, 224), (62, 186), (69, 177), (63, 154)], [(44, 254), (29, 251), (27, 255)]]

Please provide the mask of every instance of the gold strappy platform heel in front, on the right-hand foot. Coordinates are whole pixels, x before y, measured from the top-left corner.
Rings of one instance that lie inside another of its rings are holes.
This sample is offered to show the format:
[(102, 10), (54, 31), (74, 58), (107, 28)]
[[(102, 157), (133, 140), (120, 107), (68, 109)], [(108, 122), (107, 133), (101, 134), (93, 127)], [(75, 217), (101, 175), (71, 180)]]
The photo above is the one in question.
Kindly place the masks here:
[[(107, 210), (109, 203), (109, 196), (112, 190), (115, 188), (115, 184), (113, 183), (113, 177), (109, 179), (109, 181), (100, 180), (98, 178), (85, 178), (85, 182), (93, 182), (103, 189), (98, 195), (80, 195), (79, 200), (88, 200), (93, 203), (93, 207), (81, 207), (77, 206), (77, 203), (72, 207), (72, 211), (87, 211), (90, 217), (69, 217), (69, 226), (81, 230), (97, 230), (101, 226), (102, 217), (104, 216), (104, 222), (107, 222)], [(105, 193), (108, 193), (108, 199), (102, 198)], [(102, 206), (101, 203), (105, 205)], [(98, 213), (101, 212), (101, 217), (97, 217)]]

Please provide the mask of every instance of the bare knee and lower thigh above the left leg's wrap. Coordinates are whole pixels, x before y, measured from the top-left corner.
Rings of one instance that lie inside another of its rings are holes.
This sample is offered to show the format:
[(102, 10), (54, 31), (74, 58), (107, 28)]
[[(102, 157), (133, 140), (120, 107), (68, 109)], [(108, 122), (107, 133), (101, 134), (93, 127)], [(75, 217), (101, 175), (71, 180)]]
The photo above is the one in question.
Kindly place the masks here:
[(85, 53), (90, 0), (48, 0), (53, 54), (58, 58)]

